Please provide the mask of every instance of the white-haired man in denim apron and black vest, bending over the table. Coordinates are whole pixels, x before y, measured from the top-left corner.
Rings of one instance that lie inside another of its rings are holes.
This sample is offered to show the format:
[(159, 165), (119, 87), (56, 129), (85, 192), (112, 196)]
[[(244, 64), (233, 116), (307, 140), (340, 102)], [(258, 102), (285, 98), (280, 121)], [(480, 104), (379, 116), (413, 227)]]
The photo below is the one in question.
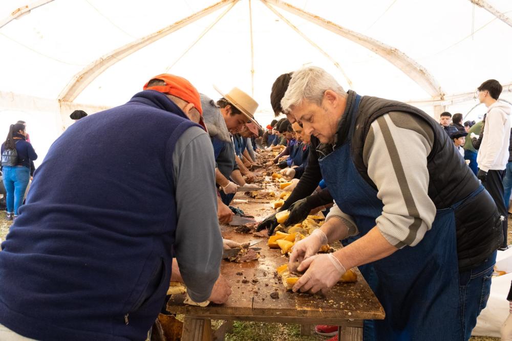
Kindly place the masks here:
[(293, 247), (289, 267), (306, 270), (293, 290), (328, 290), (345, 269), (364, 265), (386, 311), (366, 339), (468, 339), (502, 235), (496, 204), (439, 123), (401, 102), (346, 93), (319, 67), (294, 72), (281, 104), (321, 141), (336, 203)]

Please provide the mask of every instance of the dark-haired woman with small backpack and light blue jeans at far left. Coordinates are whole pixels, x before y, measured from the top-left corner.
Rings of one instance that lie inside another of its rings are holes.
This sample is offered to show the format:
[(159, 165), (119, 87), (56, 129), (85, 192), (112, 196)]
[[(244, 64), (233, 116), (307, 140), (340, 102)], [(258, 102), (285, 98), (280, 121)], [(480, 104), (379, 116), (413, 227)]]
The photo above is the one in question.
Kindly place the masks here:
[(34, 148), (26, 141), (26, 135), (24, 124), (11, 124), (7, 139), (2, 144), (7, 220), (13, 220), (18, 216), (18, 209), (22, 206), (23, 196), (29, 184), (30, 162), (37, 159)]

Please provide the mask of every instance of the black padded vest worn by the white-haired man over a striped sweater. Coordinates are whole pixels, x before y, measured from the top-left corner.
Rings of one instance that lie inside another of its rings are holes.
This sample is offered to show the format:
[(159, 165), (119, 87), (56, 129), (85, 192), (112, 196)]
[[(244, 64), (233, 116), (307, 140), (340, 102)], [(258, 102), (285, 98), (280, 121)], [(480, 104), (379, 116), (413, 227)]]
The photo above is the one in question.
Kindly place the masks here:
[[(355, 93), (349, 90), (345, 114), (349, 112), (354, 100)], [(371, 186), (376, 188), (368, 176), (362, 151), (373, 121), (391, 111), (406, 112), (419, 117), (428, 123), (434, 132), (434, 144), (427, 159), (427, 168), (430, 177), (428, 194), (437, 210), (451, 207), (479, 188), (479, 180), (462, 160), (451, 139), (432, 117), (402, 102), (364, 96), (358, 108), (351, 151), (356, 169)], [(334, 148), (345, 141), (348, 122), (350, 118), (344, 115), (339, 124)], [(479, 265), (501, 245), (503, 235), (498, 210), (487, 191), (482, 191), (458, 207), (455, 210), (455, 219), (459, 269), (465, 270)]]

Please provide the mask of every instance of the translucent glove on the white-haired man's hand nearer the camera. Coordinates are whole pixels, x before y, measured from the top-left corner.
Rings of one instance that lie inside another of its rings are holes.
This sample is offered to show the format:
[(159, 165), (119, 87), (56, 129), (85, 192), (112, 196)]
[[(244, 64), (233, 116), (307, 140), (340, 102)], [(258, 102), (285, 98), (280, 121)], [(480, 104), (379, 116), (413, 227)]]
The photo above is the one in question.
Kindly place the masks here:
[[(316, 231), (316, 230), (315, 230)], [(345, 274), (345, 267), (334, 254), (316, 255), (305, 259), (297, 270), (307, 271), (293, 286), (293, 292), (326, 293)]]

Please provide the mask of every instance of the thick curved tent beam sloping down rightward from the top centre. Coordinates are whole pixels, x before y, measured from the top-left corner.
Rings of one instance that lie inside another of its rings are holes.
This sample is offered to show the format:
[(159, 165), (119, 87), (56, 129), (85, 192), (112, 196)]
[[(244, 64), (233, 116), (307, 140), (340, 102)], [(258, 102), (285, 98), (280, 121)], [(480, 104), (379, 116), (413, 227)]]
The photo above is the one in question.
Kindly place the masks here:
[(263, 3), (272, 4), (287, 12), (300, 16), (308, 21), (313, 22), (313, 24), (323, 27), (337, 35), (340, 35), (359, 44), (362, 47), (369, 49), (370, 51), (376, 53), (380, 57), (395, 65), (400, 71), (415, 81), (430, 96), (440, 99), (444, 98), (444, 91), (442, 90), (437, 80), (429, 73), (429, 71), (397, 48), (389, 46), (379, 40), (370, 38), (364, 34), (339, 26), (332, 21), (306, 12), (281, 0), (261, 1)]

